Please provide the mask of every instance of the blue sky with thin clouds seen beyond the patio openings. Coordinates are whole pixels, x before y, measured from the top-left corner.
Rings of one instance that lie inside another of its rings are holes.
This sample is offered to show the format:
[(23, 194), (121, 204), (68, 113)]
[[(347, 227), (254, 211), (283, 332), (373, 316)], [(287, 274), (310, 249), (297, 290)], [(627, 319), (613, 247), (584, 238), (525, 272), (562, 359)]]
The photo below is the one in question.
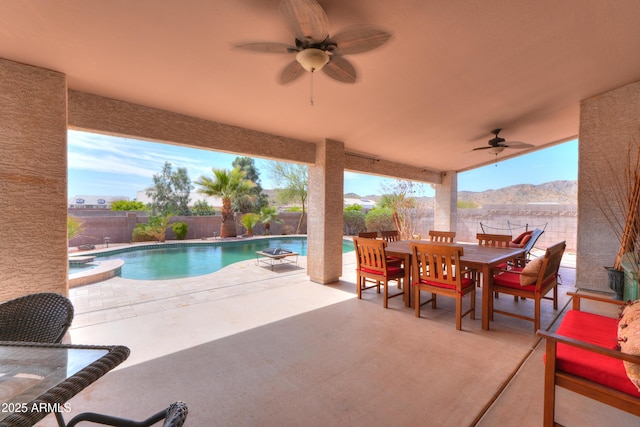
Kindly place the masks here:
[[(117, 138), (80, 131), (69, 131), (69, 197), (126, 196), (153, 183), (153, 175), (160, 173), (165, 161), (174, 170), (187, 168), (192, 181), (202, 175), (212, 175), (212, 168), (231, 168), (235, 154), (158, 144), (131, 138)], [(261, 172), (263, 188), (274, 185), (266, 176), (266, 161), (255, 159)], [(496, 166), (497, 165), (497, 166)], [(473, 171), (460, 173), (458, 189), (483, 191), (513, 184), (540, 184), (555, 180), (575, 180), (578, 175), (577, 141), (546, 150), (498, 162)], [(394, 180), (371, 175), (345, 173), (345, 193), (361, 196), (381, 194), (383, 185)], [(433, 190), (425, 186), (425, 195)]]

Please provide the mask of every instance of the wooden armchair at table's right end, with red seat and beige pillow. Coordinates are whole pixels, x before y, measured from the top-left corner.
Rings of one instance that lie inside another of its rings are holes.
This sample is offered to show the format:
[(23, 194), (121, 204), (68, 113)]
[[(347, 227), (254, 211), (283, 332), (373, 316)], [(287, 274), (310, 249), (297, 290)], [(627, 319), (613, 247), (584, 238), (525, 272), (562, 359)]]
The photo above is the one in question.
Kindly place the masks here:
[[(531, 298), (534, 300), (534, 312), (533, 317), (529, 317), (498, 310), (494, 306), (493, 298), (489, 298), (489, 319), (493, 320), (493, 314), (499, 313), (533, 322), (533, 332), (540, 329), (541, 301), (553, 300), (553, 309), (558, 309), (558, 270), (565, 248), (566, 242), (556, 243), (547, 248), (544, 257), (536, 258), (524, 267), (498, 271), (498, 274), (492, 276), (488, 291), (510, 294), (516, 298)], [(553, 297), (546, 296), (550, 291), (553, 291)]]

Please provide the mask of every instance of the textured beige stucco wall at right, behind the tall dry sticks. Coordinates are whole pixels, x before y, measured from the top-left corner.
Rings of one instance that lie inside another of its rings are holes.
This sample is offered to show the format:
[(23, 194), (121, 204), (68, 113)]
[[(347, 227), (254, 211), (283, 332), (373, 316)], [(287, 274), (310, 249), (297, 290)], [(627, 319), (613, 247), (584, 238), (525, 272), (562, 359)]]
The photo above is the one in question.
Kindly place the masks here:
[(640, 137), (640, 82), (584, 100), (580, 108), (576, 286), (610, 292), (604, 266), (615, 260), (618, 240), (594, 202), (616, 203), (624, 181), (627, 147)]

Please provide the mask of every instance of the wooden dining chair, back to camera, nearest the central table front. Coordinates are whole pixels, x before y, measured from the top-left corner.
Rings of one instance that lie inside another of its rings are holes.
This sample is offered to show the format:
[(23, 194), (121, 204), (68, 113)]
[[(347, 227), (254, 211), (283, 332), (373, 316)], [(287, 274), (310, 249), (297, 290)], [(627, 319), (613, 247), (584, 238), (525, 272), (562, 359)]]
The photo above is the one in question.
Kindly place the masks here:
[[(434, 245), (428, 243), (412, 243), (412, 286), (416, 317), (420, 317), (420, 307), (431, 303), (436, 309), (437, 295), (456, 300), (456, 329), (462, 329), (462, 318), (469, 314), (475, 319), (476, 287), (469, 277), (475, 270), (464, 269), (460, 265), (463, 255), (461, 246)], [(420, 302), (420, 292), (430, 292), (431, 299)], [(470, 295), (470, 307), (462, 311), (465, 295)]]

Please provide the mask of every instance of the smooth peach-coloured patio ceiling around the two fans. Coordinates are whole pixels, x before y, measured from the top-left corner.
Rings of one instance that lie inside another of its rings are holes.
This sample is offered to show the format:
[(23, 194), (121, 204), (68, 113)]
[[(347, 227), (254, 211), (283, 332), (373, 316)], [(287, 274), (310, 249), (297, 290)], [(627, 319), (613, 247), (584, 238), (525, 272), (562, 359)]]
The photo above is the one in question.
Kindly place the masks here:
[[(640, 79), (637, 0), (319, 0), (330, 33), (393, 33), (352, 55), (360, 80), (288, 86), (279, 0), (30, 0), (0, 5), (0, 57), (65, 73), (71, 89), (433, 170), (494, 161), (471, 151), (503, 128), (535, 149), (573, 139), (579, 102)], [(233, 147), (230, 147), (233, 151)], [(521, 154), (507, 150), (501, 158)]]

